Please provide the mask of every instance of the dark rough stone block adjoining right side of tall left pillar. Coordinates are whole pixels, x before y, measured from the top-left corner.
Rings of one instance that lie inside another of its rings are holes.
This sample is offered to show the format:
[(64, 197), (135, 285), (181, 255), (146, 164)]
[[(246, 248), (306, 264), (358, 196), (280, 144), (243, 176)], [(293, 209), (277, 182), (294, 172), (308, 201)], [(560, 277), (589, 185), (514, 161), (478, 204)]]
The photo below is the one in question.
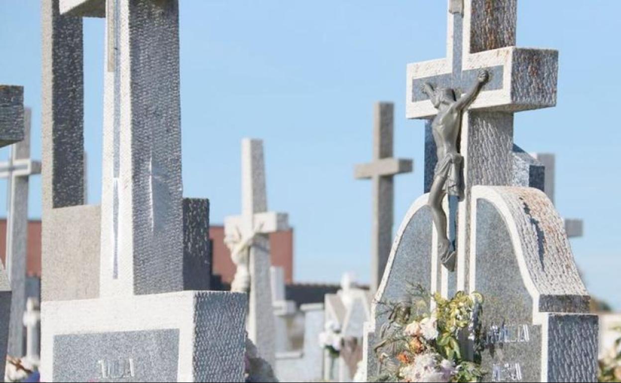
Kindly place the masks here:
[(211, 289), (209, 200), (183, 199), (183, 289)]

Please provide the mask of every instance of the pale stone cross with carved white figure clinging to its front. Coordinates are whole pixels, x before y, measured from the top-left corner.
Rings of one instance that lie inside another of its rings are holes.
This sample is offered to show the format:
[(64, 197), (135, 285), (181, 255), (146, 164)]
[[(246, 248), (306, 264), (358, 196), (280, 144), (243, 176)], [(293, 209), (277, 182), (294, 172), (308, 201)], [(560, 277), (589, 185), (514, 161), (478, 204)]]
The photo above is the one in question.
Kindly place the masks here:
[(237, 266), (232, 291), (248, 292), (248, 338), (274, 366), (275, 324), (269, 233), (288, 230), (288, 216), (268, 212), (263, 142), (242, 140), (242, 215), (225, 217), (224, 235)]

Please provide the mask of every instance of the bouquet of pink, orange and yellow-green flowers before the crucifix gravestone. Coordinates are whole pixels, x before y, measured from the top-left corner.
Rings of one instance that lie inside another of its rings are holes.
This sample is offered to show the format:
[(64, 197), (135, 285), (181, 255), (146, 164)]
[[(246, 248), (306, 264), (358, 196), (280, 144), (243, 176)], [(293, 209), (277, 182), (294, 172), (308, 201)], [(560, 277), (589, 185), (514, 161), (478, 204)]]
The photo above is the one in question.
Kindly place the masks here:
[[(380, 303), (388, 321), (374, 345), (378, 357), (375, 382), (476, 382), (483, 375), (479, 353), (483, 347), (476, 315), (483, 296), (457, 292), (445, 299), (420, 286), (409, 289), (400, 302)], [(430, 309), (427, 302), (434, 302)], [(471, 345), (466, 358), (460, 343)]]

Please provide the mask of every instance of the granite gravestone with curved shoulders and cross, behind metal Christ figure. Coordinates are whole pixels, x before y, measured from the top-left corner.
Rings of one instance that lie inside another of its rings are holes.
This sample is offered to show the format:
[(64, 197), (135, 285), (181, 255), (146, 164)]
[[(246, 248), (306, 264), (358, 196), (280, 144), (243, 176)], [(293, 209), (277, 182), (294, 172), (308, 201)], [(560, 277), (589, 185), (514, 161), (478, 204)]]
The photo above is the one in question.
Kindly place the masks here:
[[(595, 381), (597, 318), (587, 313), (589, 295), (563, 221), (542, 191), (514, 186), (513, 114), (555, 105), (558, 54), (514, 46), (515, 0), (449, 5), (447, 58), (408, 66), (406, 115), (435, 114), (422, 83), (460, 96), (479, 70), (489, 74), (462, 117), (465, 197), (456, 209), (456, 272), (438, 264), (425, 194), (397, 232), (375, 299), (399, 300), (407, 284), (445, 297), (479, 291), (486, 299), (479, 318), (486, 381)], [(371, 350), (386, 320), (373, 305), (365, 339), (369, 377), (378, 371)]]

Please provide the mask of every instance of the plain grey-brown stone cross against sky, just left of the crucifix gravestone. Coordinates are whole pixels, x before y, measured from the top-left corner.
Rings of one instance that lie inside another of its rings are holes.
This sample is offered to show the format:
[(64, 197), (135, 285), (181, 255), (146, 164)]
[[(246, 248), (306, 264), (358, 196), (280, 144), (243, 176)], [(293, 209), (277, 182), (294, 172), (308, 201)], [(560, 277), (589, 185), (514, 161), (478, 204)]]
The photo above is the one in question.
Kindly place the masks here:
[(392, 157), (394, 104), (378, 102), (373, 108), (373, 162), (356, 165), (356, 179), (373, 181), (373, 223), (371, 228), (371, 291), (376, 291), (384, 274), (392, 244), (394, 175), (410, 173), (412, 160)]

